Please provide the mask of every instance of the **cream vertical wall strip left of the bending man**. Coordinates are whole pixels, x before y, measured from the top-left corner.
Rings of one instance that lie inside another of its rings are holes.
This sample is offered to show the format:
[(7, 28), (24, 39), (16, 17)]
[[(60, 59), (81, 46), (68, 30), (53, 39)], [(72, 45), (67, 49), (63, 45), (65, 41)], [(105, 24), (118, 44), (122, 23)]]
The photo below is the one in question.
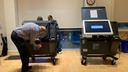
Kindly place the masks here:
[(11, 41), (11, 32), (16, 28), (15, 0), (3, 0), (5, 26), (9, 50), (14, 50), (15, 45)]

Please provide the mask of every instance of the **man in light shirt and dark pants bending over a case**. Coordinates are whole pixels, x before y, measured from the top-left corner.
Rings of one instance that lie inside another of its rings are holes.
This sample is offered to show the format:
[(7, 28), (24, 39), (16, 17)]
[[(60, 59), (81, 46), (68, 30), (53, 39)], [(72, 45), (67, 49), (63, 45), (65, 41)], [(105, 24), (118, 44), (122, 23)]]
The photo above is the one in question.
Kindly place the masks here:
[(21, 27), (17, 27), (12, 31), (11, 39), (15, 44), (21, 58), (21, 72), (29, 72), (32, 66), (29, 66), (29, 48), (28, 43), (33, 44), (36, 48), (41, 48), (41, 44), (35, 43), (35, 38), (45, 32), (44, 26), (39, 26), (35, 23), (24, 23)]

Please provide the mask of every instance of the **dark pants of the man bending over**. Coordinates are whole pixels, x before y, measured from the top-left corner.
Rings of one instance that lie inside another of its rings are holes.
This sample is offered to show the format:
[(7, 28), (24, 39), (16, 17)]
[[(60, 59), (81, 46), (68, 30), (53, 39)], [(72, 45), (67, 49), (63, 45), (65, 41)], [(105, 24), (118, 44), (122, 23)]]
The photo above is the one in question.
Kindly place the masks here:
[(22, 62), (22, 71), (28, 71), (28, 64), (29, 64), (29, 48), (27, 46), (27, 41), (23, 38), (19, 37), (16, 32), (12, 32), (11, 39), (13, 43), (16, 45), (18, 52), (20, 54), (21, 62)]

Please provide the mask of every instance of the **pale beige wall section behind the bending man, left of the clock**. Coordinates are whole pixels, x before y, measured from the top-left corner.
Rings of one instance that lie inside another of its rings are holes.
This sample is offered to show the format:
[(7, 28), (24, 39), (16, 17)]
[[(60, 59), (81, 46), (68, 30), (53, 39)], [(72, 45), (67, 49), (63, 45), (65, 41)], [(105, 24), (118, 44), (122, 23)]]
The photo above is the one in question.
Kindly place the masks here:
[(81, 24), (82, 0), (19, 0), (19, 22), (42, 16), (47, 20), (53, 15), (61, 28), (79, 28)]

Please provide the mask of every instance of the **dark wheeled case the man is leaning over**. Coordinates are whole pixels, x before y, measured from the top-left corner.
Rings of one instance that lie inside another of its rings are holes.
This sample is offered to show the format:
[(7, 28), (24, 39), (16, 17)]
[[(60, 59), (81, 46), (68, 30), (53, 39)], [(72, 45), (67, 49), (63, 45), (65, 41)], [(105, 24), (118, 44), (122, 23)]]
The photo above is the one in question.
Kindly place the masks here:
[(39, 35), (38, 39), (41, 41), (42, 48), (35, 48), (33, 45), (28, 45), (30, 50), (30, 56), (32, 61), (36, 60), (36, 57), (50, 57), (53, 65), (56, 65), (56, 55), (57, 55), (57, 25), (55, 22), (49, 21), (24, 21), (34, 22), (40, 26), (46, 27), (46, 32)]

